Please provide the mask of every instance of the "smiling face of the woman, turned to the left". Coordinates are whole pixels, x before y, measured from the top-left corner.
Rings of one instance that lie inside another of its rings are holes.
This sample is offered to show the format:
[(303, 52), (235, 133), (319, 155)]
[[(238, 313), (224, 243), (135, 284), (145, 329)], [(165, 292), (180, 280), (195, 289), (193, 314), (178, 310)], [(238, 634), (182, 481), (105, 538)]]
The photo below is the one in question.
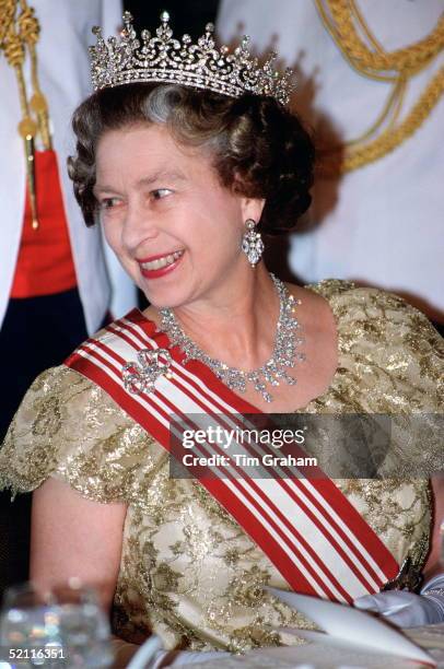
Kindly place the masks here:
[(154, 306), (190, 304), (247, 267), (244, 222), (260, 201), (221, 186), (209, 154), (162, 126), (107, 131), (94, 193), (109, 246)]

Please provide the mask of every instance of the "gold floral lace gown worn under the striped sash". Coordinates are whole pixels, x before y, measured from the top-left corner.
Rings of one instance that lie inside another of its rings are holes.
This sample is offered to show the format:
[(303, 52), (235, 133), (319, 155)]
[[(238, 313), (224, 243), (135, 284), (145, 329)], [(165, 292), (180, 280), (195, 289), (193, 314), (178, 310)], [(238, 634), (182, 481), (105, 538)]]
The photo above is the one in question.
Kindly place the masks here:
[[(309, 287), (336, 316), (339, 365), (328, 390), (301, 412), (442, 411), (443, 340), (422, 314), (341, 281)], [(140, 643), (155, 632), (167, 648), (244, 650), (278, 644), (276, 626), (311, 626), (264, 592), (264, 584), (288, 585), (237, 523), (199, 483), (170, 479), (164, 448), (65, 366), (34, 382), (0, 451), (0, 488), (32, 491), (48, 477), (97, 502), (128, 503), (117, 635)], [(421, 567), (431, 524), (427, 480), (335, 482), (399, 564), (409, 555)]]

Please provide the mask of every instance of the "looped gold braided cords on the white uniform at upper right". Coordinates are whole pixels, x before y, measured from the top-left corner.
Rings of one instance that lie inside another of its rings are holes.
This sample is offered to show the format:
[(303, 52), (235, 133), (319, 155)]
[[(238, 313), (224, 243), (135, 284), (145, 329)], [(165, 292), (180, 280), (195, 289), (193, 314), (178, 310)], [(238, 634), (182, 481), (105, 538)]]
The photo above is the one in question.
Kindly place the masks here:
[[(444, 49), (444, 16), (423, 39), (387, 52), (372, 35), (354, 0), (315, 1), (325, 26), (351, 67), (364, 77), (393, 84), (388, 101), (372, 128), (343, 145), (319, 151), (320, 175), (336, 177), (394, 151), (420, 128), (437, 104), (444, 92), (444, 67), (432, 78), (404, 120), (398, 121), (409, 80)], [(361, 35), (366, 37), (369, 45)], [(386, 128), (382, 130), (384, 124)]]

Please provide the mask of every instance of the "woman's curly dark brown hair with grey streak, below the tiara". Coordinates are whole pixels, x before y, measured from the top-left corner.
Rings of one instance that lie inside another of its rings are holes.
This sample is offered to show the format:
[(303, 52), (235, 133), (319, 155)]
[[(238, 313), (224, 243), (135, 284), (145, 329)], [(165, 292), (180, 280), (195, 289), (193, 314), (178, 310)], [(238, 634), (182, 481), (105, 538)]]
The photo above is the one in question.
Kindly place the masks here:
[(166, 124), (179, 142), (208, 149), (226, 188), (265, 199), (261, 232), (287, 232), (308, 209), (314, 144), (300, 119), (276, 99), (136, 83), (98, 91), (74, 111), (77, 155), (68, 159), (68, 171), (86, 225), (96, 219), (93, 188), (100, 138), (107, 130), (147, 122)]

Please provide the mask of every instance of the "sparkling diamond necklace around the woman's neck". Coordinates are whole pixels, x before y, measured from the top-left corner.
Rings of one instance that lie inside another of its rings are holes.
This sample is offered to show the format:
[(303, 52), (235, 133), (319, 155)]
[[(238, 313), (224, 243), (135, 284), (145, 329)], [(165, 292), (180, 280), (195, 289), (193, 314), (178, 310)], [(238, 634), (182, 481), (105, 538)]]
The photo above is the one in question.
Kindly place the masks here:
[(305, 360), (303, 353), (296, 352), (296, 347), (303, 343), (297, 330), (300, 324), (293, 316), (294, 306), (301, 304), (289, 293), (285, 285), (274, 274), (270, 274), (279, 295), (279, 319), (276, 328), (274, 347), (271, 357), (259, 368), (244, 372), (237, 367), (230, 367), (225, 363), (211, 357), (187, 337), (170, 308), (160, 309), (162, 316), (161, 329), (166, 332), (173, 345), (177, 345), (185, 353), (183, 365), (190, 360), (198, 360), (215, 374), (231, 390), (246, 391), (246, 385), (250, 382), (255, 390), (260, 392), (267, 402), (272, 401), (272, 396), (267, 390), (267, 385), (279, 386), (283, 380), (294, 386), (296, 379), (287, 373), (288, 367), (294, 367), (295, 361)]

